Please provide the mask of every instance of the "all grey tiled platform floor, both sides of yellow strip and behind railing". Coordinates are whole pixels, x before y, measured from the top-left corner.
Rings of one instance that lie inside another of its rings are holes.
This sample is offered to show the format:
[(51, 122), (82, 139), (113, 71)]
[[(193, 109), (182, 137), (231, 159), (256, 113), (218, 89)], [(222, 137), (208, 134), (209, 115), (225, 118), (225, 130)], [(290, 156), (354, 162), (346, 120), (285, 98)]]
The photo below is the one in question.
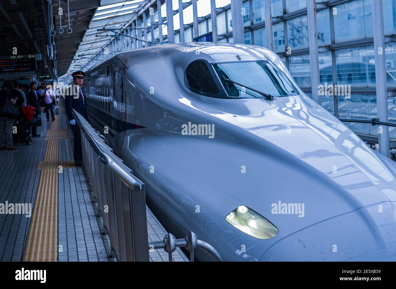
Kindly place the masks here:
[[(32, 203), (40, 170), (37, 165), (44, 159), (46, 134), (51, 122), (44, 114), (42, 137), (33, 138), (31, 146), (16, 144), (18, 150), (0, 150), (0, 203)], [(68, 129), (69, 138), (59, 139), (59, 161), (73, 160), (73, 135), (60, 107), (59, 129)], [(110, 242), (103, 235), (103, 221), (97, 217), (96, 203), (92, 203), (82, 168), (63, 169), (58, 174), (58, 261), (114, 261), (109, 259)], [(30, 218), (21, 214), (0, 214), (0, 261), (21, 261)], [(148, 240), (162, 240), (166, 230), (147, 207)], [(168, 261), (164, 250), (150, 252), (150, 261)], [(173, 261), (187, 261), (177, 248)]]

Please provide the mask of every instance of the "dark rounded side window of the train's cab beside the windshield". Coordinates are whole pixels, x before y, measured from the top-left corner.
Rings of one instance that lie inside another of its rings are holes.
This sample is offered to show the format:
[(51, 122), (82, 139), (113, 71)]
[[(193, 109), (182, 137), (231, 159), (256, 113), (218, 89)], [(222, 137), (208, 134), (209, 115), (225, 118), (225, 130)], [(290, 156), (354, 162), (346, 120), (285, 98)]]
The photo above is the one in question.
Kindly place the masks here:
[(219, 88), (208, 66), (202, 60), (195, 60), (188, 64), (184, 79), (186, 86), (192, 92), (206, 96), (219, 93)]

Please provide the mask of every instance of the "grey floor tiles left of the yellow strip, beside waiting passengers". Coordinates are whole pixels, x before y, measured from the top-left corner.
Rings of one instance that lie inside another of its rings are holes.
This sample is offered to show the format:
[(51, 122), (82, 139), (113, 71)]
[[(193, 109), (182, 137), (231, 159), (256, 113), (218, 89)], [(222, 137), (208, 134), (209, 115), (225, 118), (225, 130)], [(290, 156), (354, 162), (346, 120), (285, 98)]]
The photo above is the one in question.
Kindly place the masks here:
[[(45, 135), (51, 123), (45, 122), (37, 132)], [(33, 144), (15, 144), (17, 150), (0, 150), (0, 203), (33, 203), (40, 171), (37, 163), (44, 159), (47, 141), (33, 138)], [(33, 205), (32, 205), (33, 208)], [(21, 214), (0, 214), (0, 261), (21, 261), (30, 218)]]

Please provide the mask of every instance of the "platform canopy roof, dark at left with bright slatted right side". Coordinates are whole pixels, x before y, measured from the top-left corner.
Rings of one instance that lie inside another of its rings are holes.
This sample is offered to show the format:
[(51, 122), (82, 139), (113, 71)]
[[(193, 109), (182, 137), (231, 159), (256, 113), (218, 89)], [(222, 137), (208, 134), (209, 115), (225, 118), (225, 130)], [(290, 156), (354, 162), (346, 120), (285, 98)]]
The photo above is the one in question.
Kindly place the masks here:
[[(40, 75), (68, 75), (88, 61), (113, 37), (98, 28), (122, 28), (148, 0), (3, 0), (0, 1), (0, 55), (41, 54)], [(48, 55), (47, 3), (55, 36), (54, 58)], [(59, 13), (61, 15), (59, 15)], [(68, 33), (68, 28), (72, 29)], [(63, 28), (60, 33), (59, 28)], [(14, 53), (15, 54), (15, 53)]]

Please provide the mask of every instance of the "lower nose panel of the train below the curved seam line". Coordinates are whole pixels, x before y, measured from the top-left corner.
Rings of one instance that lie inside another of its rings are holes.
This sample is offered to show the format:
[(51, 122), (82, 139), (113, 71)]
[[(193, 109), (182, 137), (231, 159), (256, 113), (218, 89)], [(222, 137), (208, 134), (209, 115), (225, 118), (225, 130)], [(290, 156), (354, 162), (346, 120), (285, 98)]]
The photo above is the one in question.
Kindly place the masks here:
[(395, 203), (328, 218), (274, 242), (260, 261), (394, 261)]

